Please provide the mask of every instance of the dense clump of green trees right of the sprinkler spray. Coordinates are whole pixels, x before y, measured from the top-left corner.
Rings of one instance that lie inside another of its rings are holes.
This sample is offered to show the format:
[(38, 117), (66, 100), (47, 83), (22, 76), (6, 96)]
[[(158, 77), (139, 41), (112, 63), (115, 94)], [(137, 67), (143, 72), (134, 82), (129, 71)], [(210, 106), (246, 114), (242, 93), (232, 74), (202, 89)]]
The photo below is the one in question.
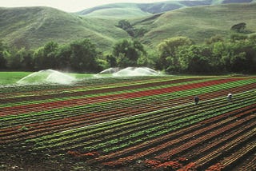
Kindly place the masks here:
[(158, 52), (158, 68), (170, 73), (256, 73), (256, 34), (217, 35), (200, 45), (186, 37), (169, 38)]

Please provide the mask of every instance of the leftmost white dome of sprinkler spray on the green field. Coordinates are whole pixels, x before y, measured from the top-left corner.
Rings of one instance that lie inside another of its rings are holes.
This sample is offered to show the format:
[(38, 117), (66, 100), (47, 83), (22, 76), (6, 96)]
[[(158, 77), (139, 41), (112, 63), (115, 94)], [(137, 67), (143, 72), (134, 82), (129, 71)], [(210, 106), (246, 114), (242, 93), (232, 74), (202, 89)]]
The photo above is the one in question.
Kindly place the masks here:
[(60, 84), (68, 85), (76, 81), (76, 78), (68, 74), (64, 74), (57, 70), (40, 70), (20, 79), (19, 85), (33, 85), (33, 84)]

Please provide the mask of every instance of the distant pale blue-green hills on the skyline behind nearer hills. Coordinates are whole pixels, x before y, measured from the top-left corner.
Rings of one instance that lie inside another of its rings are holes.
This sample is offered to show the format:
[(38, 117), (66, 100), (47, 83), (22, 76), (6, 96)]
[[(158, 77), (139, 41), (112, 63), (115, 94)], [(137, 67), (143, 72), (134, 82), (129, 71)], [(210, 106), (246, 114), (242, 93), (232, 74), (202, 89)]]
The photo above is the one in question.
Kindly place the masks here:
[(210, 6), (225, 3), (250, 3), (255, 0), (172, 0), (154, 3), (113, 3), (96, 6), (78, 12), (80, 15), (100, 18), (135, 18), (147, 14), (159, 14), (191, 6)]

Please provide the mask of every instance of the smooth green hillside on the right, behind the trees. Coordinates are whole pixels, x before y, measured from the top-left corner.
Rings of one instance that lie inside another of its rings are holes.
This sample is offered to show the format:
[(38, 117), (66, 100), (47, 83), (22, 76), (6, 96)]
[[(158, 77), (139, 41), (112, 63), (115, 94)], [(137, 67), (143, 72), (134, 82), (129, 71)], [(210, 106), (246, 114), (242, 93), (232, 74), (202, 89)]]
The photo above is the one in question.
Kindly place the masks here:
[(141, 40), (150, 46), (176, 36), (203, 42), (216, 34), (228, 36), (230, 27), (239, 22), (246, 22), (246, 30), (256, 32), (255, 9), (256, 3), (191, 7), (133, 22), (134, 27), (147, 30)]

